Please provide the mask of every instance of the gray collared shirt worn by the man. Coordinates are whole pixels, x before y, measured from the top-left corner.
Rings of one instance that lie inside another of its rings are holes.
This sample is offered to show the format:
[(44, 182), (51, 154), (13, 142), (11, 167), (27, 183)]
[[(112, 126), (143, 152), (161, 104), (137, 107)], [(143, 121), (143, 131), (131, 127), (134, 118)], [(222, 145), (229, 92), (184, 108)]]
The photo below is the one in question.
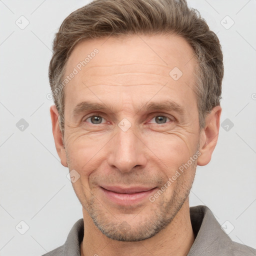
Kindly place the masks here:
[[(210, 209), (203, 205), (190, 207), (190, 219), (196, 235), (187, 256), (255, 256), (256, 249), (233, 242), (221, 229)], [(75, 222), (65, 243), (42, 256), (80, 256), (83, 219)]]

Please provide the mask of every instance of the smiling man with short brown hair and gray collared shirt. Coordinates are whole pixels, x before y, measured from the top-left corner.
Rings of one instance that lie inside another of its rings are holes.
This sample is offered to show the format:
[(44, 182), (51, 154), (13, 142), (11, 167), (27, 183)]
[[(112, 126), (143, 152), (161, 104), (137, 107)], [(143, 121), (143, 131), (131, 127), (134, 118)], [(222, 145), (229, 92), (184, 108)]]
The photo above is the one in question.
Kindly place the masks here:
[(95, 0), (63, 21), (50, 113), (83, 219), (45, 255), (256, 255), (189, 208), (222, 77), (219, 40), (185, 0)]

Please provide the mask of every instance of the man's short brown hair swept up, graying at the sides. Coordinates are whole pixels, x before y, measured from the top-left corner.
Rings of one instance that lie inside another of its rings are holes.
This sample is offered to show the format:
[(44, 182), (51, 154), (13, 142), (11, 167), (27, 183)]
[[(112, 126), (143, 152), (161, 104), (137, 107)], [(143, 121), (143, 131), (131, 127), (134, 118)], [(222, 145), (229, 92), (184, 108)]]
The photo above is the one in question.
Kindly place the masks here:
[[(196, 87), (199, 127), (219, 105), (223, 55), (216, 34), (186, 0), (94, 0), (69, 14), (53, 41), (49, 81), (64, 132), (64, 88), (59, 87), (75, 45), (81, 41), (127, 34), (176, 34), (193, 48), (197, 60)], [(57, 92), (57, 93), (56, 93)]]

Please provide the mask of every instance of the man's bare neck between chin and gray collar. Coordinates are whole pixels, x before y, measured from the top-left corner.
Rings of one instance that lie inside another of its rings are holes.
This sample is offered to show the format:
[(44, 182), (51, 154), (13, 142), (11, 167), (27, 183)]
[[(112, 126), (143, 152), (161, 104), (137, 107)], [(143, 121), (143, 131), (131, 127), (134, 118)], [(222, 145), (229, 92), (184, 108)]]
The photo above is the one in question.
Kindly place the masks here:
[(188, 198), (172, 221), (154, 236), (136, 242), (112, 240), (101, 233), (83, 209), (84, 236), (81, 256), (88, 255), (175, 255), (188, 254), (194, 241)]

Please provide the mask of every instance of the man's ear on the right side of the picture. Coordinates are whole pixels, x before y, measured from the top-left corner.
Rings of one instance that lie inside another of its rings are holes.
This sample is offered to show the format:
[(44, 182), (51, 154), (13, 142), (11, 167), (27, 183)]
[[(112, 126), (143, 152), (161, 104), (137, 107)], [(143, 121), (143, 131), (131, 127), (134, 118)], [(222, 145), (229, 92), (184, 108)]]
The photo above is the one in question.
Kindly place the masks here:
[(211, 154), (216, 146), (219, 132), (221, 107), (215, 106), (206, 115), (205, 126), (200, 131), (200, 156), (197, 158), (198, 165), (206, 165), (211, 159)]

